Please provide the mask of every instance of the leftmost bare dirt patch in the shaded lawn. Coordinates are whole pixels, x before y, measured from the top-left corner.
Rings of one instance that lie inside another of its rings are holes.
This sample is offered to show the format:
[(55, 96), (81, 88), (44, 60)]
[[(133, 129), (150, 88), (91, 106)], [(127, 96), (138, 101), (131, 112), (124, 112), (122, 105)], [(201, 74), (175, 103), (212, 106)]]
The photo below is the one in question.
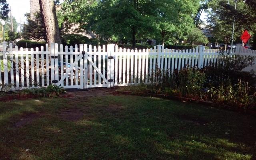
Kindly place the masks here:
[(16, 122), (14, 124), (15, 127), (20, 128), (23, 127), (27, 124), (30, 124), (31, 122), (33, 122), (34, 120), (36, 120), (37, 118), (39, 118), (40, 116), (42, 116), (41, 113), (30, 113), (30, 114), (26, 114), (25, 116), (22, 116), (20, 118), (20, 121)]

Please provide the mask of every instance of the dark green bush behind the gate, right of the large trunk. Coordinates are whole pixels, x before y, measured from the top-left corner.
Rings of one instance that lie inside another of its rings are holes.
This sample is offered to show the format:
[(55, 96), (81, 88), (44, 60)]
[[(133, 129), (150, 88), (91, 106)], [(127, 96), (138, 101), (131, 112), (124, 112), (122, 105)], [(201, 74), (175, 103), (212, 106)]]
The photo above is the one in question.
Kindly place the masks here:
[(76, 44), (91, 44), (92, 46), (100, 44), (102, 46), (108, 44), (108, 42), (96, 38), (88, 38), (80, 34), (66, 34), (62, 37), (62, 44), (64, 46), (75, 46)]

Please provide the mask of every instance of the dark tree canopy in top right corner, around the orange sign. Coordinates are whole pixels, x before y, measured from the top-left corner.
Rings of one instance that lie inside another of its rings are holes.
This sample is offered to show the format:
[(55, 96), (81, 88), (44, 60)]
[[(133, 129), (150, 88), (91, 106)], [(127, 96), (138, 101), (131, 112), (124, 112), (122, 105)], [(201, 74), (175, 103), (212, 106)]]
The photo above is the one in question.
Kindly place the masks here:
[(232, 36), (233, 18), (235, 18), (234, 41), (241, 43), (240, 35), (248, 30), (251, 35), (256, 32), (256, 1), (238, 0), (236, 10), (235, 2), (230, 0), (211, 0), (208, 9), (208, 27), (217, 42), (229, 43)]

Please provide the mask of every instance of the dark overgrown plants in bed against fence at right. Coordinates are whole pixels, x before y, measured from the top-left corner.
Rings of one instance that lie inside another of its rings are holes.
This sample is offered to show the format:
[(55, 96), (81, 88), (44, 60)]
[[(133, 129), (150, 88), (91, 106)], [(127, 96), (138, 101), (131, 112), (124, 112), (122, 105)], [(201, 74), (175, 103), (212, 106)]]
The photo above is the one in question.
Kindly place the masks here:
[(149, 84), (129, 86), (130, 91), (184, 96), (244, 109), (256, 109), (256, 76), (244, 72), (250, 56), (220, 55), (219, 63), (205, 68), (182, 68), (173, 72), (156, 69)]

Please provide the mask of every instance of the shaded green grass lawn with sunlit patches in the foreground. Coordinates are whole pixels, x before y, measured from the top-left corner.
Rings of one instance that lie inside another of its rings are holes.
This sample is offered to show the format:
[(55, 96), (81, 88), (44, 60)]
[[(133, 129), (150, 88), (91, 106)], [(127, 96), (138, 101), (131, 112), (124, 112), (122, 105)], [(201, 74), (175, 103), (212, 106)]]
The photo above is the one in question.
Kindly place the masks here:
[(0, 102), (0, 159), (255, 160), (255, 122), (140, 96)]

